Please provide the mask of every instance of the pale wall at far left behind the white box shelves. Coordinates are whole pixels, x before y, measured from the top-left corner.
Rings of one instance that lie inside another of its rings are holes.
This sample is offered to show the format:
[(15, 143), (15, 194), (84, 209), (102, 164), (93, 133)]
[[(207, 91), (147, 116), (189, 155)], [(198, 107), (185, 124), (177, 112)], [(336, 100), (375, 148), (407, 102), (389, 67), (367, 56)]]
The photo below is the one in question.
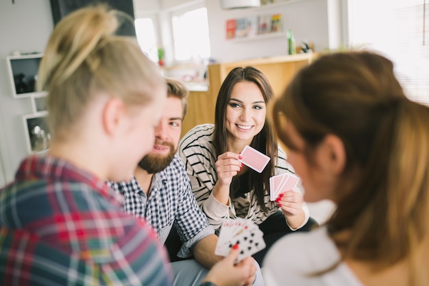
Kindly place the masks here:
[(12, 97), (6, 57), (12, 50), (43, 51), (53, 29), (49, 0), (14, 2), (0, 1), (0, 160), (6, 182), (27, 155), (22, 117), (33, 112), (30, 98)]

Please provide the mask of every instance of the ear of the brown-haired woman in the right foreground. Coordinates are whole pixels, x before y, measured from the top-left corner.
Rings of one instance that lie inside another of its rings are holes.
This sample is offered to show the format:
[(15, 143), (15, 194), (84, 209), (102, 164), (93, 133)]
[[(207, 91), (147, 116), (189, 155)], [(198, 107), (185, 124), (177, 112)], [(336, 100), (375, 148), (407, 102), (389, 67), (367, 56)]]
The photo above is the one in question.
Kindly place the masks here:
[[(323, 139), (323, 152), (326, 152), (324, 160), (336, 175), (340, 175), (347, 161), (343, 141), (333, 134), (328, 134)], [(323, 164), (323, 163), (322, 163)]]

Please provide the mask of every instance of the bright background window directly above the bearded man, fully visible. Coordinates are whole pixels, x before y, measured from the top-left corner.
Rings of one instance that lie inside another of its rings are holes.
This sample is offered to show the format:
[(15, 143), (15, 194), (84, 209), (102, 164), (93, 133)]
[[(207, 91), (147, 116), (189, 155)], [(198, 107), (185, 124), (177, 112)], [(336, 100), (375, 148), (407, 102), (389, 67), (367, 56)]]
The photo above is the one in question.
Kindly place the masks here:
[(173, 14), (173, 47), (176, 61), (210, 57), (207, 9), (197, 8)]

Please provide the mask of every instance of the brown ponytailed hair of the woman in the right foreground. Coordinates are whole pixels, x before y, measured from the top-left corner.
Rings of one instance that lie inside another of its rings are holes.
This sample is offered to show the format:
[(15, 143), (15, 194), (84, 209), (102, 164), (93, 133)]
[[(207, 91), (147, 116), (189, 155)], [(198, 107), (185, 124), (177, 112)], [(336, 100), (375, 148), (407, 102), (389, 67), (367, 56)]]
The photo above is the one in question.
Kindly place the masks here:
[[(426, 285), (421, 261), (428, 254), (420, 250), (428, 247), (429, 108), (405, 97), (393, 64), (367, 52), (321, 56), (299, 71), (272, 111), (280, 140), (297, 148), (282, 130), (292, 123), (310, 163), (327, 134), (343, 141), (338, 207), (326, 223), (343, 259), (378, 265), (375, 271), (405, 261), (409, 285)], [(350, 237), (340, 238), (343, 231)]]

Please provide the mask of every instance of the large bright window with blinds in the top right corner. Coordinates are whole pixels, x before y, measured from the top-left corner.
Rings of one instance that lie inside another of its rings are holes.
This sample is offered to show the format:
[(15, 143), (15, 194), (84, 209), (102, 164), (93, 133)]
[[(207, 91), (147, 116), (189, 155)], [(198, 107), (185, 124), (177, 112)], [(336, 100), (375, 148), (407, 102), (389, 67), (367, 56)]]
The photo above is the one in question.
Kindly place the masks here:
[(429, 105), (428, 0), (348, 0), (349, 44), (395, 63), (410, 99)]

